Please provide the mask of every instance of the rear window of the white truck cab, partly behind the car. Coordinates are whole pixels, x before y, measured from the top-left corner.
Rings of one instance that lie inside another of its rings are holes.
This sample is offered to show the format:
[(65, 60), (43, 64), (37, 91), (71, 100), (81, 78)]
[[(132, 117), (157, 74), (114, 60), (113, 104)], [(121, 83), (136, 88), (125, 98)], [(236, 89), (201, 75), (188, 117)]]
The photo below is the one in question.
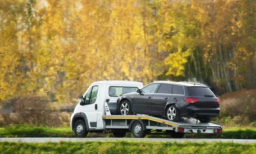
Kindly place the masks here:
[(138, 89), (138, 87), (109, 87), (109, 96), (110, 97), (118, 97), (121, 94), (134, 92)]

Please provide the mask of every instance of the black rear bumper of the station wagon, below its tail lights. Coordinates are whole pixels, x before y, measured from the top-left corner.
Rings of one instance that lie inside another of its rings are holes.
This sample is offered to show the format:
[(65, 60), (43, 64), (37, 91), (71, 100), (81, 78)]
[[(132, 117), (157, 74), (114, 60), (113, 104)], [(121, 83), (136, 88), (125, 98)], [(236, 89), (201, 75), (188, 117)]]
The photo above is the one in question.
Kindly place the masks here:
[(220, 108), (198, 108), (189, 106), (187, 107), (187, 113), (191, 117), (216, 117), (220, 113)]

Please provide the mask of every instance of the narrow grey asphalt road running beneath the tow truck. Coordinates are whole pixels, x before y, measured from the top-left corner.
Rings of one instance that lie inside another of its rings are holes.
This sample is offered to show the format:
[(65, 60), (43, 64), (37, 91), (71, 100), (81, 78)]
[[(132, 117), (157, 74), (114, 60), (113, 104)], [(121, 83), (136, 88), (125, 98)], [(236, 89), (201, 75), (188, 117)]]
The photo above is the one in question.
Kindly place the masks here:
[(60, 142), (60, 141), (72, 141), (72, 142), (84, 142), (84, 141), (175, 141), (175, 142), (235, 142), (235, 143), (256, 143), (256, 140), (247, 139), (166, 139), (166, 138), (0, 138), (0, 142)]

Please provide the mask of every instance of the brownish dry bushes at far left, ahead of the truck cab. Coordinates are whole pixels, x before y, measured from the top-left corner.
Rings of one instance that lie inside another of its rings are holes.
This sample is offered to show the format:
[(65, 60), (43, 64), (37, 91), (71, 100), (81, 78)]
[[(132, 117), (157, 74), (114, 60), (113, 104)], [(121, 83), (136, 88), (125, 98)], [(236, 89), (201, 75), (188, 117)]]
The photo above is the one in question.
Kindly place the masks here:
[[(1, 122), (9, 124), (31, 124), (36, 126), (69, 126), (71, 113), (52, 110), (47, 97), (20, 97), (3, 102)], [(10, 110), (10, 111), (9, 111)]]

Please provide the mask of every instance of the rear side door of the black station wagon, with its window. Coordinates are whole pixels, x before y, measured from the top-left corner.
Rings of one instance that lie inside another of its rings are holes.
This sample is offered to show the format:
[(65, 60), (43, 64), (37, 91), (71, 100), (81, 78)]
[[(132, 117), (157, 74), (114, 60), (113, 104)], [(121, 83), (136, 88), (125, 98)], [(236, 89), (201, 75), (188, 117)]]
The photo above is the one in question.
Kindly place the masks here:
[(167, 101), (171, 97), (172, 85), (161, 84), (157, 92), (154, 94), (151, 103), (152, 115), (164, 115), (164, 108)]

